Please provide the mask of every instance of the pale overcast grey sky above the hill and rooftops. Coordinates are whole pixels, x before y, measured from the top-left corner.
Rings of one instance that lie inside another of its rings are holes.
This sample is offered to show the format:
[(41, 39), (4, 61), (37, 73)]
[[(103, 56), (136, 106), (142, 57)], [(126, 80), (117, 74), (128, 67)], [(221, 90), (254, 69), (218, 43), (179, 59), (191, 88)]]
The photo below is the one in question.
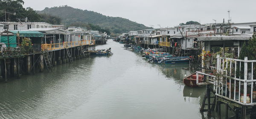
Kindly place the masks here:
[[(23, 0), (24, 7), (43, 10), (67, 5), (123, 17), (154, 28), (173, 27), (187, 21), (225, 22), (228, 10), (233, 23), (256, 22), (256, 0)], [(214, 20), (212, 20), (214, 19)], [(158, 26), (160, 25), (160, 26)]]

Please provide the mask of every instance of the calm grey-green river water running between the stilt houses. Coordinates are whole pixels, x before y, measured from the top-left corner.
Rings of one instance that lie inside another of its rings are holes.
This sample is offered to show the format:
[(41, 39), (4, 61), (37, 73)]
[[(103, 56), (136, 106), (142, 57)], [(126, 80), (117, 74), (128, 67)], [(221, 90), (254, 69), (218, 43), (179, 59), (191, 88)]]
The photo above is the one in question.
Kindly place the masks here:
[(184, 86), (188, 65), (158, 65), (109, 40), (109, 57), (0, 83), (2, 119), (201, 119), (205, 87)]

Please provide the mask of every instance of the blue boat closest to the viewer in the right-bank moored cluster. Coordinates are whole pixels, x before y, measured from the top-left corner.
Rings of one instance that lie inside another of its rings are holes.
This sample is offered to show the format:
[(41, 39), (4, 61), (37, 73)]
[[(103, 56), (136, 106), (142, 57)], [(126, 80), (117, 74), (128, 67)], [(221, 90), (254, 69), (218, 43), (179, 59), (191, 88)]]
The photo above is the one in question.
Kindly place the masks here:
[(158, 63), (164, 64), (180, 64), (180, 63), (189, 63), (190, 57), (163, 57), (162, 60), (158, 61)]

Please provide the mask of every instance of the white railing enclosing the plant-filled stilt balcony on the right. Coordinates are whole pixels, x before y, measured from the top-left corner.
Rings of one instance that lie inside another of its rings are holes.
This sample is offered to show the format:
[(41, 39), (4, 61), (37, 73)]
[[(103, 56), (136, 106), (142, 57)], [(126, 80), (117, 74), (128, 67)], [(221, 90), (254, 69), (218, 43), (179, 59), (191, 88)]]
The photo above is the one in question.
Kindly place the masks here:
[[(217, 56), (217, 71), (214, 75), (197, 72), (207, 77), (207, 82), (198, 85), (212, 84), (215, 95), (229, 99), (242, 105), (256, 105), (256, 90), (253, 85), (256, 78), (253, 77), (256, 68), (256, 60), (232, 59)], [(254, 68), (254, 69), (253, 69)], [(242, 96), (243, 95), (243, 96)], [(236, 97), (238, 96), (238, 97)]]

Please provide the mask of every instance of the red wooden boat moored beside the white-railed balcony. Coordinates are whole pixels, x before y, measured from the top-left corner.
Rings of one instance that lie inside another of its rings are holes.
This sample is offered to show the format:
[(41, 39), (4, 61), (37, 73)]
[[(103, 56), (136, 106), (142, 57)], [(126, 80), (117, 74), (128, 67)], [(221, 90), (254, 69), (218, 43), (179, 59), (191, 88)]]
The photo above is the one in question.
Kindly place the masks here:
[[(204, 75), (198, 75), (198, 82), (204, 82)], [(183, 79), (183, 83), (189, 87), (198, 87), (196, 84), (196, 73), (189, 75)]]

